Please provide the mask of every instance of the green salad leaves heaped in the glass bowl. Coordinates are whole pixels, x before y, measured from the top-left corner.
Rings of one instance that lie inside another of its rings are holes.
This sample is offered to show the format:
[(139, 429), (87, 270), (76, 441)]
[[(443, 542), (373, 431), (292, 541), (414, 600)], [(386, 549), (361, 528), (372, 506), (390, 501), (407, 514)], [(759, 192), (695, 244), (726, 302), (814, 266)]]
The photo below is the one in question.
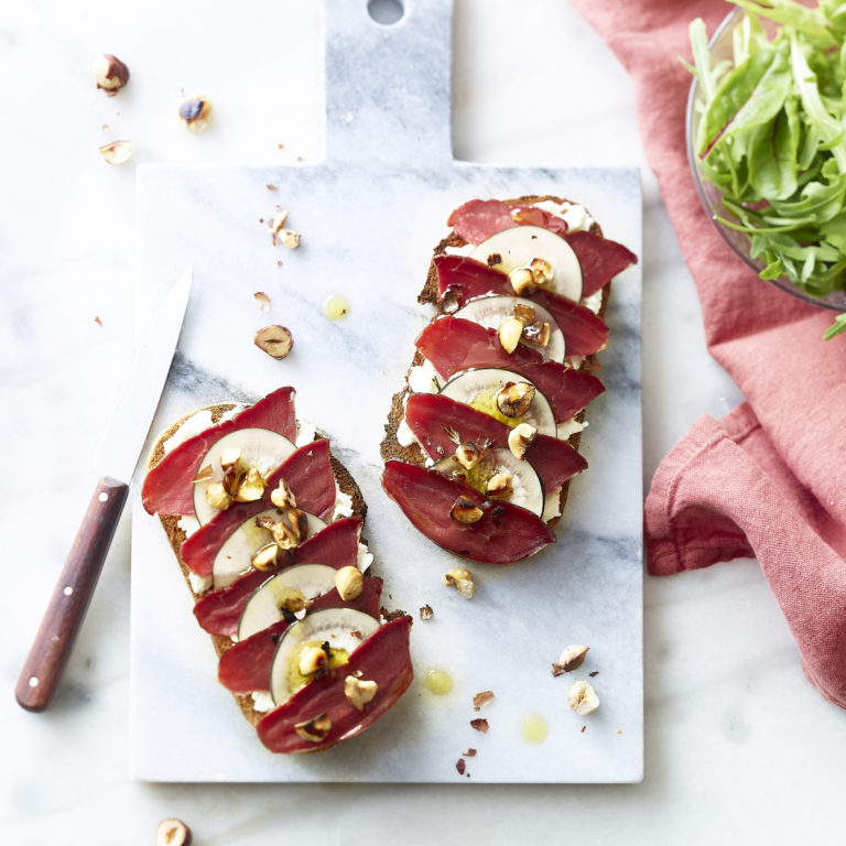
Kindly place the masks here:
[[(812, 296), (846, 288), (846, 2), (731, 0), (745, 14), (715, 61), (690, 26), (698, 83), (693, 149), (723, 195), (717, 219), (749, 237), (761, 279)], [(826, 330), (846, 332), (846, 314)]]

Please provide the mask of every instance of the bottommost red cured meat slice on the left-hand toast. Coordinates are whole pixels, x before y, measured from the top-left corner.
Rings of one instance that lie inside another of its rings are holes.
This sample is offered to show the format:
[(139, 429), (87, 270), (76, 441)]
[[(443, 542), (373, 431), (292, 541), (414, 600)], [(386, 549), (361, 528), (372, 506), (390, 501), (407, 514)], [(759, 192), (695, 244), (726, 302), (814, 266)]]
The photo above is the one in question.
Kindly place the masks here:
[[(414, 677), (409, 654), (411, 617), (400, 617), (373, 632), (350, 657), (349, 663), (299, 690), (288, 702), (265, 714), (257, 726), (261, 742), (272, 752), (314, 752), (346, 740), (392, 707)], [(377, 694), (364, 712), (354, 708), (344, 695), (344, 680), (358, 674), (377, 684)], [(319, 742), (306, 740), (297, 724), (326, 715), (332, 728)]]

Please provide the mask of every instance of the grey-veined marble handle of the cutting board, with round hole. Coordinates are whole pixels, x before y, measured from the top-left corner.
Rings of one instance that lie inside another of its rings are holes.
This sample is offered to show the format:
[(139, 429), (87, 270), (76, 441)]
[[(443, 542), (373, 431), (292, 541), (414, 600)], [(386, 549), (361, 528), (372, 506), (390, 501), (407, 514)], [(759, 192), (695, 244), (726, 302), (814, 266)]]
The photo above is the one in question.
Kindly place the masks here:
[(452, 147), (453, 0), (399, 0), (377, 23), (367, 0), (325, 0), (326, 156), (444, 164)]

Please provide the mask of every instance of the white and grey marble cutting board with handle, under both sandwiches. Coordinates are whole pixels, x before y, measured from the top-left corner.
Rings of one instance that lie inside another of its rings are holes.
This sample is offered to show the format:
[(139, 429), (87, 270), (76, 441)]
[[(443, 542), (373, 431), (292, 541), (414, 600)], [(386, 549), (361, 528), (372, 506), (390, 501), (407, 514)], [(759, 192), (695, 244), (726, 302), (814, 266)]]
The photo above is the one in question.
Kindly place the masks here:
[[(415, 617), (415, 681), (360, 738), (318, 756), (271, 756), (217, 684), (216, 657), (158, 520), (132, 511), (131, 772), (149, 781), (628, 782), (642, 778), (640, 268), (614, 285), (608, 390), (589, 410), (588, 470), (576, 478), (558, 542), (507, 568), (471, 565), (477, 594), (441, 584), (456, 560), (420, 536), (382, 492), (379, 443), (413, 339), (416, 304), (449, 212), (473, 197), (556, 194), (584, 203), (606, 235), (640, 253), (636, 170), (499, 167), (453, 160), (452, 3), (406, 0), (392, 26), (364, 0), (328, 0), (327, 154), (297, 166), (139, 169), (138, 325), (188, 263), (194, 290), (155, 434), (199, 405), (252, 401), (282, 384), (317, 424), (369, 506), (365, 535), (386, 581), (383, 604)], [(425, 68), (425, 73), (421, 73)], [(272, 193), (267, 185), (278, 186)], [(273, 247), (259, 218), (289, 209), (297, 250)], [(278, 261), (282, 265), (278, 265)], [(264, 291), (270, 311), (253, 293)], [(322, 313), (345, 296), (349, 316)], [(282, 323), (294, 351), (274, 361), (254, 332)], [(151, 435), (152, 440), (153, 435)], [(419, 608), (434, 609), (430, 621)], [(571, 676), (551, 663), (590, 646)], [(454, 682), (445, 696), (423, 679)], [(574, 679), (595, 673), (601, 705), (577, 717)], [(480, 712), (475, 694), (495, 699)], [(523, 738), (539, 715), (549, 734)], [(485, 717), (489, 731), (470, 726)], [(584, 727), (584, 728), (583, 728)], [(465, 752), (475, 748), (475, 757)], [(456, 769), (466, 760), (466, 773)]]

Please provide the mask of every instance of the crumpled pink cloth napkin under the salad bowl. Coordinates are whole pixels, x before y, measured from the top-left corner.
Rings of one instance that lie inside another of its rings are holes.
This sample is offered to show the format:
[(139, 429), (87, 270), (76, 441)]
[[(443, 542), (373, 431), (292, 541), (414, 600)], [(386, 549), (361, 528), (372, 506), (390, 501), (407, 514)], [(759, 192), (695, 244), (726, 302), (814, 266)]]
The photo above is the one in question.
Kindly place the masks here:
[(703, 416), (659, 466), (644, 510), (649, 570), (758, 558), (810, 681), (846, 708), (846, 339), (832, 313), (760, 281), (703, 210), (685, 151), (687, 26), (724, 0), (571, 0), (631, 74), (638, 119), (712, 355), (746, 398)]

